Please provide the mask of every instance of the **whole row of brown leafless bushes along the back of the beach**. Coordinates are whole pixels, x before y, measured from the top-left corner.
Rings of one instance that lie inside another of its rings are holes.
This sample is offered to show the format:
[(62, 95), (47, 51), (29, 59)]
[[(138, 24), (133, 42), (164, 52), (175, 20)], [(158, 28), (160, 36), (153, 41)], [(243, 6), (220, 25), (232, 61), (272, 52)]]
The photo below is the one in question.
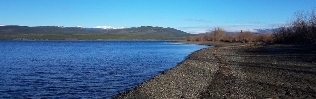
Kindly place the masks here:
[(267, 44), (316, 44), (316, 14), (314, 8), (311, 12), (297, 11), (288, 23), (280, 26), (272, 34), (253, 34), (249, 30), (226, 34), (221, 27), (214, 28), (213, 32), (204, 36), (189, 36), (187, 41), (240, 41), (264, 42)]

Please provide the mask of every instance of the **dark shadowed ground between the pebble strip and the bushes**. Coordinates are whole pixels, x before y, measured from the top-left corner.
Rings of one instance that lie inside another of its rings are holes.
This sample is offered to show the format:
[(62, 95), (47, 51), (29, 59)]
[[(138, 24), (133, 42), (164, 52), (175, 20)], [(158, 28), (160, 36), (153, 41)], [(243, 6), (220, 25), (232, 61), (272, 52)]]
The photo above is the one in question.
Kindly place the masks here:
[(220, 69), (201, 98), (316, 98), (315, 46), (222, 47)]

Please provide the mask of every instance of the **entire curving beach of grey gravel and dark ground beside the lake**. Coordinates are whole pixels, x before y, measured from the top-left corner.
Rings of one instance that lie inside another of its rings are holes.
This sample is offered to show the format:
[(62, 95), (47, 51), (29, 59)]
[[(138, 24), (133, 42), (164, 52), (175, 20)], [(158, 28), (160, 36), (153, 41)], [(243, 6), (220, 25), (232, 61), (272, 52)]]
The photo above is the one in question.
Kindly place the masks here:
[(113, 98), (316, 98), (314, 45), (174, 43), (214, 47)]

